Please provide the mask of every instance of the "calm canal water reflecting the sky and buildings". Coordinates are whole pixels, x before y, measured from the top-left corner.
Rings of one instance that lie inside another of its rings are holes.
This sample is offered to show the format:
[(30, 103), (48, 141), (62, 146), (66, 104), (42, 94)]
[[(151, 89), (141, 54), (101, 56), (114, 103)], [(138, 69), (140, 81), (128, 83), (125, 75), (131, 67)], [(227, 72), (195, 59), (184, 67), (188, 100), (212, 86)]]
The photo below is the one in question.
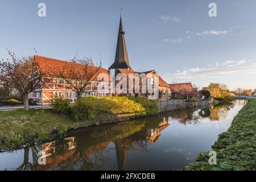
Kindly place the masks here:
[[(209, 151), (245, 105), (171, 111), (73, 131), (40, 146), (0, 153), (0, 170), (172, 170)], [(46, 151), (46, 165), (38, 152)]]

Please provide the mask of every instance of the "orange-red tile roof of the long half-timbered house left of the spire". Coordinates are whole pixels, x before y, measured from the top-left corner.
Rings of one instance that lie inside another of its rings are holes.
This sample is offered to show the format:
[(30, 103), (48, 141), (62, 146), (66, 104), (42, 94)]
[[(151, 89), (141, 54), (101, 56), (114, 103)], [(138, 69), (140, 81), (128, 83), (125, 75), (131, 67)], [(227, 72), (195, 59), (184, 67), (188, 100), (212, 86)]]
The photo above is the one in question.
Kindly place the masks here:
[[(43, 56), (34, 56), (34, 60), (38, 63), (38, 67), (42, 72), (46, 72), (48, 76), (50, 77), (59, 77), (60, 71), (64, 69), (65, 67), (69, 67), (71, 64), (68, 61), (62, 61), (57, 59), (52, 59), (49, 57), (43, 57)], [(72, 65), (73, 66), (73, 65)], [(82, 64), (76, 64), (77, 67), (75, 67), (78, 71), (82, 71)], [(96, 69), (96, 67), (92, 67), (92, 69)], [(109, 72), (104, 69), (100, 68), (99, 71), (94, 75), (93, 80), (97, 78), (97, 76), (100, 73), (105, 73), (109, 77), (109, 81), (111, 80)], [(72, 78), (72, 76), (68, 75), (67, 77)]]

